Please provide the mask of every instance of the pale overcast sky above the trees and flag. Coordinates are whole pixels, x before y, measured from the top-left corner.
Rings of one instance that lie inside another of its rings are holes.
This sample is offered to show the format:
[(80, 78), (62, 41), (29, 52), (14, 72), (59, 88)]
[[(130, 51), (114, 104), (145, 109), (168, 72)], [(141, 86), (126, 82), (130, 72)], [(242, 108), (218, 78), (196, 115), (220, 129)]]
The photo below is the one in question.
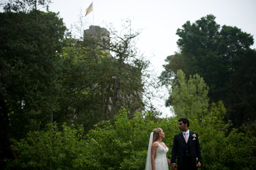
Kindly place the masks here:
[[(85, 9), (92, 0), (52, 0), (50, 11), (60, 12), (66, 27), (70, 28), (78, 20), (79, 9), (85, 15)], [(178, 28), (188, 20), (193, 23), (208, 14), (213, 14), (215, 21), (222, 27), (236, 26), (243, 32), (256, 35), (256, 1), (255, 0), (94, 0), (93, 12), (86, 19), (94, 25), (106, 27), (103, 21), (111, 22), (116, 30), (121, 30), (122, 19), (132, 18), (133, 29), (143, 29), (137, 47), (144, 52), (159, 76), (166, 64), (164, 59), (178, 51), (176, 35)], [(2, 9), (1, 9), (2, 12)], [(94, 16), (94, 17), (93, 17)], [(134, 19), (133, 19), (134, 18)], [(85, 29), (88, 29), (89, 25)], [(256, 44), (251, 46), (256, 48)], [(153, 56), (154, 57), (151, 57)], [(151, 57), (151, 58), (150, 58)], [(163, 91), (168, 97), (166, 89)], [(162, 93), (164, 94), (164, 93)], [(164, 101), (154, 101), (164, 105)], [(171, 116), (170, 108), (158, 106), (162, 117)]]

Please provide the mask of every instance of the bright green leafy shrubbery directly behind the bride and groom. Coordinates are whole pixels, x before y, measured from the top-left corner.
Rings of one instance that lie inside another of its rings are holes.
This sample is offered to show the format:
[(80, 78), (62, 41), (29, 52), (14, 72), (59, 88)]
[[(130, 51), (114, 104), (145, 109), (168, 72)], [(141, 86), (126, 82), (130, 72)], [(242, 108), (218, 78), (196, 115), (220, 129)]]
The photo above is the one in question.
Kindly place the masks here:
[[(190, 119), (189, 130), (198, 133), (203, 169), (255, 169), (256, 138), (252, 132), (227, 132), (221, 118), (225, 109), (220, 102), (202, 120)], [(134, 114), (128, 119), (125, 110), (115, 116), (114, 124), (102, 121), (87, 135), (83, 127), (48, 125), (45, 132), (28, 133), (27, 138), (13, 141), (19, 159), (5, 160), (7, 169), (145, 169), (150, 132), (160, 127), (166, 133), (163, 142), (171, 158), (172, 142), (180, 133), (176, 118), (155, 123), (149, 115)], [(228, 135), (226, 135), (228, 133)], [(171, 169), (171, 166), (169, 166)]]

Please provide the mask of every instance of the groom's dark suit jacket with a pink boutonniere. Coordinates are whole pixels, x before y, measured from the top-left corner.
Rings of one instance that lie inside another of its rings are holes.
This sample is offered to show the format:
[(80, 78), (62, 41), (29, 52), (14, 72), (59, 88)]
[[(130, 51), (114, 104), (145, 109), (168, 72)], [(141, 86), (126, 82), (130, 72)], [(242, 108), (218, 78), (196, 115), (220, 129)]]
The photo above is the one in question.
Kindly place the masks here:
[[(192, 135), (196, 134), (196, 140), (193, 140)], [(171, 164), (176, 163), (176, 157), (178, 154), (178, 162), (177, 165), (181, 166), (182, 164), (182, 157), (183, 157), (183, 142), (184, 137), (182, 135), (182, 132), (174, 135), (173, 145), (172, 145), (172, 158), (171, 158)], [(198, 158), (198, 161), (202, 164), (202, 158), (201, 158), (201, 151), (200, 151), (200, 145), (198, 141), (198, 135), (197, 133), (189, 131), (189, 143), (190, 143), (190, 152), (191, 152), (191, 158), (193, 162), (193, 166), (196, 167), (196, 158)], [(197, 163), (198, 163), (197, 161)]]

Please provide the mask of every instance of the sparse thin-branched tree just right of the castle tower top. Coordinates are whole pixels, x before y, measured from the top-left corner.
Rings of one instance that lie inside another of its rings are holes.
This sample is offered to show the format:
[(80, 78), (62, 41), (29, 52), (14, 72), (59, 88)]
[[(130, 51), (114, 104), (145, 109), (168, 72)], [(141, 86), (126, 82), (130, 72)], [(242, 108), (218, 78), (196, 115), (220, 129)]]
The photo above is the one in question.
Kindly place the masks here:
[(140, 30), (131, 29), (131, 20), (124, 22), (124, 29), (120, 35), (117, 35), (112, 25), (107, 26), (110, 33), (107, 30), (102, 32), (101, 29), (105, 28), (90, 27), (99, 31), (82, 32), (83, 41), (79, 43), (84, 49), (90, 51), (91, 61), (95, 64), (102, 60), (101, 56), (97, 55), (97, 51), (103, 50), (108, 52), (108, 58), (114, 66), (108, 78), (100, 76), (101, 80), (98, 80), (96, 85), (92, 85), (92, 87), (101, 87), (101, 112), (104, 110), (105, 115), (113, 120), (119, 109), (127, 108), (131, 115), (135, 111), (153, 110), (154, 107), (147, 103), (147, 99), (143, 99), (143, 96), (150, 98), (146, 90), (146, 86), (149, 85), (147, 82), (149, 73), (146, 71), (149, 62), (139, 56), (135, 46)]

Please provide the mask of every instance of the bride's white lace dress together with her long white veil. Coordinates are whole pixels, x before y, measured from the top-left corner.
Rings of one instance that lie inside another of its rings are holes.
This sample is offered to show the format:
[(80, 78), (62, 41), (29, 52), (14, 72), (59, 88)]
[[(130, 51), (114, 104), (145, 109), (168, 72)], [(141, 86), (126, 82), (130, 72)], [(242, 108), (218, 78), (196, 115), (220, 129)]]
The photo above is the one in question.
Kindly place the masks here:
[[(152, 166), (151, 166), (151, 146), (152, 146), (152, 142), (153, 142), (153, 132), (151, 132), (150, 138), (149, 138), (148, 154), (147, 154), (145, 170), (152, 170)], [(167, 154), (168, 151), (169, 151), (169, 149), (167, 148), (167, 146), (166, 146), (166, 148), (164, 148), (164, 146), (162, 146), (158, 143), (158, 147), (156, 148), (156, 154), (155, 154), (155, 170), (169, 170), (168, 163), (167, 163), (167, 158), (166, 158), (166, 154)]]

